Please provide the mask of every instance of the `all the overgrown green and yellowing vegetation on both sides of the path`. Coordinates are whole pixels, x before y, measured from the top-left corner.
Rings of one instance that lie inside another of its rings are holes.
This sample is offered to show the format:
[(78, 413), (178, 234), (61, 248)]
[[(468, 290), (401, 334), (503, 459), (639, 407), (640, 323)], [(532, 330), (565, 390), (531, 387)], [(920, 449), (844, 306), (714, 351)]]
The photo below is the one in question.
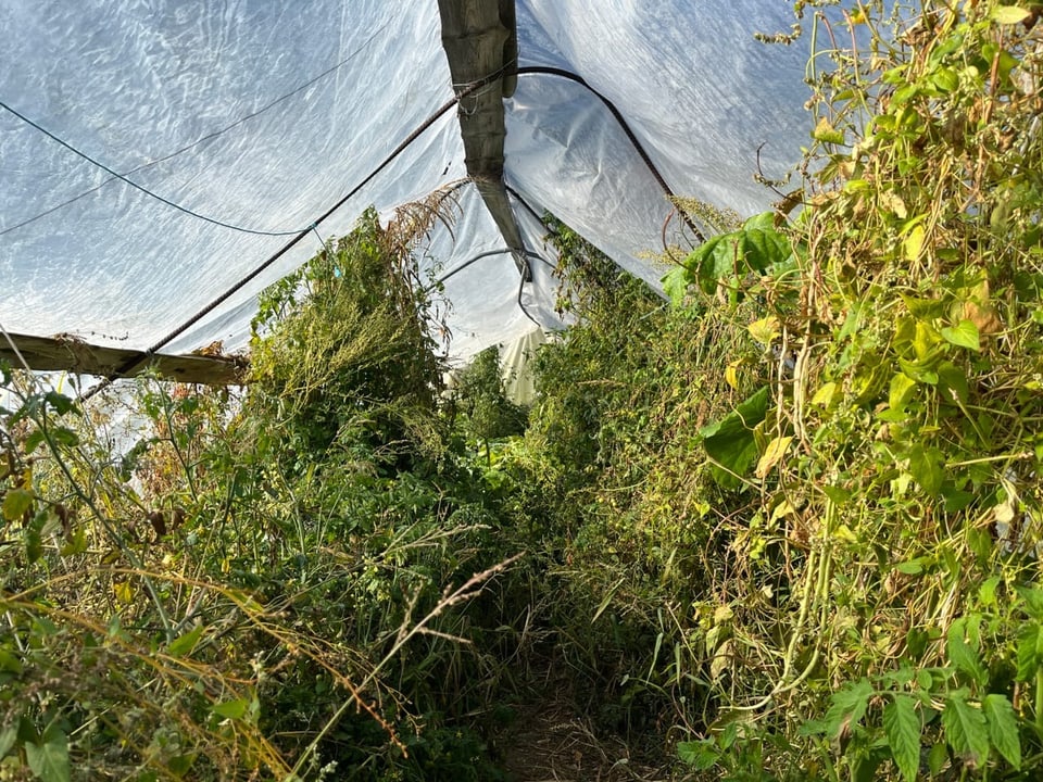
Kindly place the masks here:
[(1043, 7), (900, 5), (797, 4), (803, 190), (680, 201), (669, 303), (549, 220), (527, 416), (495, 349), (442, 393), (444, 193), (269, 290), (241, 396), (5, 367), (0, 775), (503, 779), (548, 681), (657, 779), (1043, 773)]

